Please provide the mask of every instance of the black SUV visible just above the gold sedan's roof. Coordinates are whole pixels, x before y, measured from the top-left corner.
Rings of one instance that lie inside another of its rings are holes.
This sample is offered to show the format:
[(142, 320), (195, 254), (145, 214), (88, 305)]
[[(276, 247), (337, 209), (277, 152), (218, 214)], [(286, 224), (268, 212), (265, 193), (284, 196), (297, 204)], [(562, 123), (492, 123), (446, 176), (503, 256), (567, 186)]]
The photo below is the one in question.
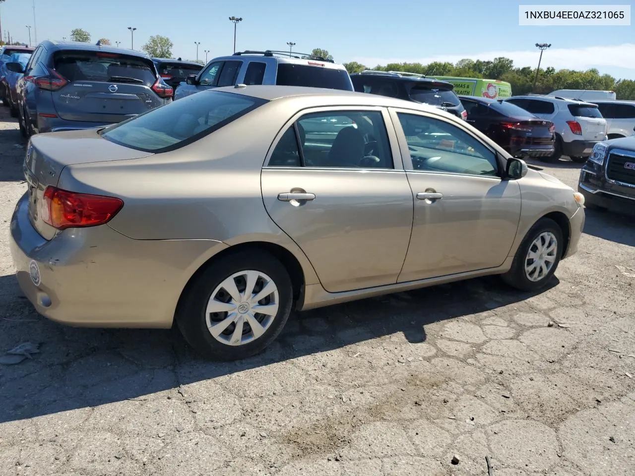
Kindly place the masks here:
[(467, 112), (447, 81), (405, 71), (365, 70), (351, 74), (355, 91), (429, 104), (465, 121)]

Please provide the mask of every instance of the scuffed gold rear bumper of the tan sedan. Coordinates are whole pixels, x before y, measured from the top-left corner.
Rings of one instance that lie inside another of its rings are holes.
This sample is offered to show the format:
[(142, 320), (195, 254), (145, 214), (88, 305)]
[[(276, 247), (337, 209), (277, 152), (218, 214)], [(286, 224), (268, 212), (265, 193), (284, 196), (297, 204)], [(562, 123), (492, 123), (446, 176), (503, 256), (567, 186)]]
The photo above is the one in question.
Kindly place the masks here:
[(227, 248), (213, 240), (133, 240), (107, 225), (68, 228), (46, 241), (27, 194), (11, 218), (20, 288), (37, 312), (81, 327), (170, 327), (189, 278)]

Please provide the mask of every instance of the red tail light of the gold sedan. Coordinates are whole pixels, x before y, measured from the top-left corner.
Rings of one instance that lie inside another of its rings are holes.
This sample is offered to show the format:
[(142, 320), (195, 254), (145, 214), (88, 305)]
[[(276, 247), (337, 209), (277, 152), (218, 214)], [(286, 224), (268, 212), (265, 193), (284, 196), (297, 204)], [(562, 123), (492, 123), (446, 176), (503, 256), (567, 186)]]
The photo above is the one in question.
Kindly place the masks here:
[(57, 187), (46, 187), (40, 216), (53, 228), (95, 227), (104, 225), (123, 207), (116, 197), (77, 194)]

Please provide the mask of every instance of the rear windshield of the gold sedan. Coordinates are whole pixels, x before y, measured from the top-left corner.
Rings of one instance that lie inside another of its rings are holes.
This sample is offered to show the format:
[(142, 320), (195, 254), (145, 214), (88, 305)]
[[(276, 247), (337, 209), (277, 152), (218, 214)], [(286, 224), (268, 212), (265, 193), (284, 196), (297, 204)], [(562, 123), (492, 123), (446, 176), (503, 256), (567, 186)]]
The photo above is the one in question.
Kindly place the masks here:
[(267, 101), (220, 91), (186, 96), (102, 129), (102, 137), (131, 149), (178, 149), (244, 116)]

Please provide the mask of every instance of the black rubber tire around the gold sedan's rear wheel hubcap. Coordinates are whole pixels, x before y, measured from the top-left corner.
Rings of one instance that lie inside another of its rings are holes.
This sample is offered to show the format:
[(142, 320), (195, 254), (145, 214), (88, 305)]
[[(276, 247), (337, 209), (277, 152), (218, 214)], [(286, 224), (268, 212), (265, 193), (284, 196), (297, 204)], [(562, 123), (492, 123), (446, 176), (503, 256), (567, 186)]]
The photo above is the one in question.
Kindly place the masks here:
[[(278, 310), (262, 336), (234, 346), (222, 343), (211, 335), (206, 324), (205, 310), (211, 294), (220, 283), (227, 277), (246, 270), (262, 272), (271, 278), (278, 292)], [(291, 279), (283, 264), (263, 251), (241, 251), (212, 261), (190, 282), (178, 305), (176, 320), (187, 343), (199, 354), (213, 360), (240, 360), (262, 352), (277, 338), (291, 314), (292, 304)]]

